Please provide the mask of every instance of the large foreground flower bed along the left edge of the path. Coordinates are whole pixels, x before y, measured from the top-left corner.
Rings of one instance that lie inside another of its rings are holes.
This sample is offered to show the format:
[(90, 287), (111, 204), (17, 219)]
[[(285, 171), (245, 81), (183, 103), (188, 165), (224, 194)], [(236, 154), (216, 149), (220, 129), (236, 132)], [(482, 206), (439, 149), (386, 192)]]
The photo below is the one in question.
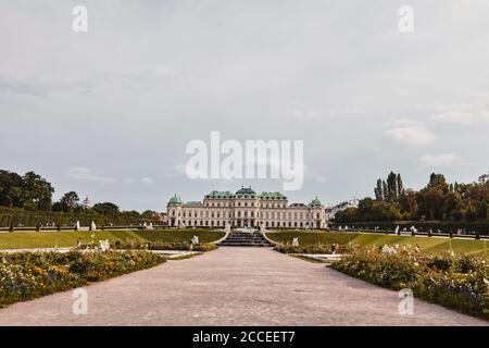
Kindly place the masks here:
[(164, 257), (148, 251), (0, 253), (0, 307), (162, 262)]

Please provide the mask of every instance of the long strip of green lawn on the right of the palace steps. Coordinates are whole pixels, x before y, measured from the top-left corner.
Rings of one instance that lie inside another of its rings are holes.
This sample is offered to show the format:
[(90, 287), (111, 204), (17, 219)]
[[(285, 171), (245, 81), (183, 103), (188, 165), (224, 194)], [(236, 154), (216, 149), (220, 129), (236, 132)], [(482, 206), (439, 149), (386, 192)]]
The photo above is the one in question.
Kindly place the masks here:
[(266, 236), (277, 243), (291, 243), (292, 238), (299, 238), (300, 245), (308, 244), (359, 244), (365, 246), (383, 246), (396, 244), (418, 245), (423, 251), (440, 253), (448, 250), (454, 252), (471, 253), (489, 258), (489, 240), (450, 239), (438, 237), (412, 237), (393, 236), (368, 233), (334, 233), (334, 232), (271, 232)]

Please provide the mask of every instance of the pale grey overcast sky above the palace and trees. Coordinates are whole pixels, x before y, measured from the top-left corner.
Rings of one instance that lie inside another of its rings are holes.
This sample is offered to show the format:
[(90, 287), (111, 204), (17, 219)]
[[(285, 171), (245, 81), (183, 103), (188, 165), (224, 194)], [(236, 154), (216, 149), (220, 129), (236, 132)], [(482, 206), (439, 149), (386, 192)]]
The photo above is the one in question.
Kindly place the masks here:
[(216, 130), (303, 140), (289, 202), (373, 196), (390, 171), (414, 189), (473, 182), (489, 170), (488, 18), (487, 0), (1, 1), (0, 169), (125, 210), (281, 190), (190, 179), (187, 144)]

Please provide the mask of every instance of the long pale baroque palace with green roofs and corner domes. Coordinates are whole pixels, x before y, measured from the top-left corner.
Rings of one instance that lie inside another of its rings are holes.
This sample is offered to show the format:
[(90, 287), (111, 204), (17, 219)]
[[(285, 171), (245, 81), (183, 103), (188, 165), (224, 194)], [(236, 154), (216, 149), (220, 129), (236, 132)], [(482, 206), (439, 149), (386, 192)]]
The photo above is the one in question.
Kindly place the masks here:
[(258, 195), (251, 187), (236, 194), (212, 191), (201, 201), (184, 202), (176, 195), (166, 207), (170, 226), (325, 228), (325, 207), (317, 199), (309, 204), (288, 203), (280, 192)]

